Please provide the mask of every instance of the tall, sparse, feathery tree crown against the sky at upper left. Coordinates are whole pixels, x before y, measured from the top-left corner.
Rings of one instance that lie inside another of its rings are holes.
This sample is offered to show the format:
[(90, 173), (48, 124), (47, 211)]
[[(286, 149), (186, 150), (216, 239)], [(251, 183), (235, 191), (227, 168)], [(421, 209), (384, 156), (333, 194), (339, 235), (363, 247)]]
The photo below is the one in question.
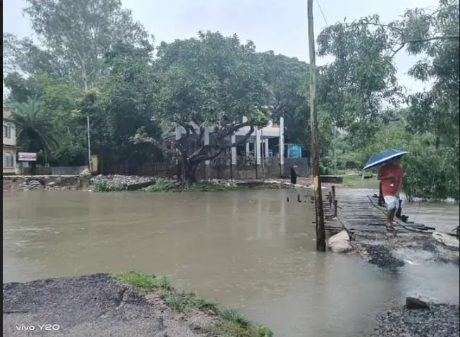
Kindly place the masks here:
[(71, 78), (82, 88), (91, 87), (106, 73), (104, 55), (116, 42), (143, 43), (144, 27), (132, 20), (120, 0), (26, 0), (24, 13), (39, 42), (4, 34), (4, 66), (26, 74), (45, 71)]

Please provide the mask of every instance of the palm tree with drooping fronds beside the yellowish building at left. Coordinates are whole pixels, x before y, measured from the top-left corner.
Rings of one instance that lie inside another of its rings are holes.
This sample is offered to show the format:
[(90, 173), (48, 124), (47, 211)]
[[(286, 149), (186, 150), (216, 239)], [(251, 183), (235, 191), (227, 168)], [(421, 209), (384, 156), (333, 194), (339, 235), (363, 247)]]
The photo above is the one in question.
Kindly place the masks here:
[(54, 137), (54, 128), (49, 116), (46, 116), (41, 99), (27, 98), (27, 102), (13, 103), (11, 119), (18, 128), (18, 143), (26, 152), (44, 151), (46, 158), (49, 152), (56, 149), (58, 142)]

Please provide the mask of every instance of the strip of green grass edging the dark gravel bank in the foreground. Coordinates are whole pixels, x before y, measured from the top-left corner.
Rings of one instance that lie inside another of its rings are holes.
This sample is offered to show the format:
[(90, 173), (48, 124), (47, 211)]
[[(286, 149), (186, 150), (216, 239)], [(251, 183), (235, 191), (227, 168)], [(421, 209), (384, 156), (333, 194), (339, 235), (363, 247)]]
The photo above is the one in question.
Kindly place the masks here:
[(273, 333), (265, 326), (252, 323), (240, 312), (209, 302), (199, 297), (193, 290), (177, 290), (168, 276), (147, 275), (137, 272), (121, 272), (113, 278), (135, 288), (141, 295), (157, 295), (171, 309), (180, 313), (199, 310), (213, 317), (206, 326), (209, 333), (219, 337), (272, 337)]

